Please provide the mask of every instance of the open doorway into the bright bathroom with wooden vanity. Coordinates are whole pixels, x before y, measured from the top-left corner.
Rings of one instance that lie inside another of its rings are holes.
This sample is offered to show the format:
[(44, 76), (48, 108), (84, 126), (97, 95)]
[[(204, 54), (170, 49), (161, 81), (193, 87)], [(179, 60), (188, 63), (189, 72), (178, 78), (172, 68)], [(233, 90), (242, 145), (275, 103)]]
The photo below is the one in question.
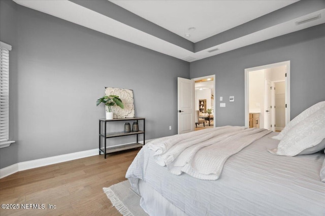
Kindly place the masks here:
[(290, 62), (245, 69), (245, 126), (281, 131), (290, 120)]

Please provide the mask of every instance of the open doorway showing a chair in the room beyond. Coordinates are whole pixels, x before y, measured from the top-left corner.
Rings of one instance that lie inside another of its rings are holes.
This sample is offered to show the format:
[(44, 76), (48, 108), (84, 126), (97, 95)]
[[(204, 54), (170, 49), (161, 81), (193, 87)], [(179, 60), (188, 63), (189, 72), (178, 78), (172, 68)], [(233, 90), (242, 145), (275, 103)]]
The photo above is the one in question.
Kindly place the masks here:
[(215, 75), (193, 78), (193, 80), (195, 81), (194, 130), (214, 127)]

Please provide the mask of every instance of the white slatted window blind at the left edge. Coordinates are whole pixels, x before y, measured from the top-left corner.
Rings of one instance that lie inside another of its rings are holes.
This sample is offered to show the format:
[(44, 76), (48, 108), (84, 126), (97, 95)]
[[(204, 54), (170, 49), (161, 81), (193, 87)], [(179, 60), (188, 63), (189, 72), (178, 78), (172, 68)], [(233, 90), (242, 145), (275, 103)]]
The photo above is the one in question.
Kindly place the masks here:
[(9, 51), (11, 46), (0, 42), (0, 143), (9, 141)]

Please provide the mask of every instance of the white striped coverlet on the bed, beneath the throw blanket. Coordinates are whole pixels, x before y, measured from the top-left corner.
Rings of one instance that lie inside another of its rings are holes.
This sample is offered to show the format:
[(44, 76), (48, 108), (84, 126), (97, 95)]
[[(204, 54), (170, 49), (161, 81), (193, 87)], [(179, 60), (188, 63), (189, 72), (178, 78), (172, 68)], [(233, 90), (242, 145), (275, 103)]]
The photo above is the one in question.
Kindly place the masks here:
[[(154, 161), (154, 151), (147, 145), (126, 178), (138, 193), (139, 179), (159, 193), (169, 203), (168, 215), (178, 215), (177, 210), (185, 215), (325, 215), (325, 183), (319, 177), (325, 155), (272, 155), (267, 149), (278, 145), (270, 138), (275, 135), (266, 135), (231, 156), (216, 181), (171, 174)], [(163, 201), (144, 191), (141, 206), (150, 215), (167, 215), (157, 207)]]

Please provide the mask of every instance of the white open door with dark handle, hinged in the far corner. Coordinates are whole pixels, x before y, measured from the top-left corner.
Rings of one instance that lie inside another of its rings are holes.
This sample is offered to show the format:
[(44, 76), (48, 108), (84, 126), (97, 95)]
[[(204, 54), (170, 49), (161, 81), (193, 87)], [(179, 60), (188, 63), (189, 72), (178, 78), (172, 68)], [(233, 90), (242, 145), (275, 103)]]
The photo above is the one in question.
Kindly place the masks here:
[(178, 134), (194, 131), (194, 80), (178, 77)]

